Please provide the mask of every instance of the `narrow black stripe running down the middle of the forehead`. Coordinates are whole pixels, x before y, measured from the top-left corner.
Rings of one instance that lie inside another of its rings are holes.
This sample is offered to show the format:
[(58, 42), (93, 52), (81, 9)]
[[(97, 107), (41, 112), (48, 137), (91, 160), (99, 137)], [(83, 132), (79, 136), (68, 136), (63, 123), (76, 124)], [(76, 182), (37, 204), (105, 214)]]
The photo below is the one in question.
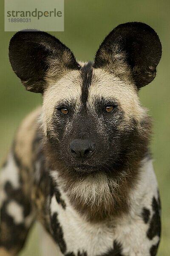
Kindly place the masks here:
[(88, 90), (91, 85), (92, 73), (93, 73), (93, 63), (89, 61), (80, 70), (82, 76), (82, 96), (81, 101), (83, 105), (86, 105), (88, 99)]

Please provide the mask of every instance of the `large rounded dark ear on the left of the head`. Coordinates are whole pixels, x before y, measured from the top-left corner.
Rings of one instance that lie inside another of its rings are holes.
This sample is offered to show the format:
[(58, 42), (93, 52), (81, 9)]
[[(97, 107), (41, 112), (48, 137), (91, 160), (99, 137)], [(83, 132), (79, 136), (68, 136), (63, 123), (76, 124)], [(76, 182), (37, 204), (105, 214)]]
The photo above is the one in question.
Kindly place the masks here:
[(79, 69), (73, 53), (54, 36), (41, 31), (17, 32), (9, 44), (11, 67), (26, 89), (43, 93), (48, 77)]

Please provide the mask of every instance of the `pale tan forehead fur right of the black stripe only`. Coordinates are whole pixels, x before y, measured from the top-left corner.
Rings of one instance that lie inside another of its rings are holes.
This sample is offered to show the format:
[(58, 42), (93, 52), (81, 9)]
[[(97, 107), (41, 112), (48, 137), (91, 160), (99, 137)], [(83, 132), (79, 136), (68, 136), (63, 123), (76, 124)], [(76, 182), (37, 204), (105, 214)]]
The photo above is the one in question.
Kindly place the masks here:
[(115, 99), (125, 113), (125, 121), (134, 118), (140, 122), (146, 116), (146, 110), (140, 105), (135, 85), (123, 81), (103, 69), (94, 69), (89, 90), (89, 108), (94, 108), (94, 98)]

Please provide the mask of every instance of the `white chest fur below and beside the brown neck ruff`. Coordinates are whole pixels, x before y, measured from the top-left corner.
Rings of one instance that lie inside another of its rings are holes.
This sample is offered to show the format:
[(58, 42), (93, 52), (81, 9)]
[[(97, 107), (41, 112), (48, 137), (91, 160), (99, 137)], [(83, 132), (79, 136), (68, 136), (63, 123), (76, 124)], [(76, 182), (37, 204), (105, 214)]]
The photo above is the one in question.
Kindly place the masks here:
[[(151, 212), (150, 217), (152, 217), (152, 198), (153, 196), (158, 197), (157, 183), (151, 160), (143, 161), (143, 167), (139, 171), (140, 180), (136, 184), (136, 189), (130, 194), (130, 212), (120, 218), (91, 224), (74, 210), (62, 190), (60, 192), (66, 203), (65, 209), (57, 203), (55, 196), (51, 198), (51, 215), (57, 213), (57, 221), (62, 228), (66, 245), (65, 254), (100, 256), (113, 249), (114, 241), (116, 241), (122, 245), (122, 255), (150, 256), (150, 247), (159, 241), (159, 237), (155, 236), (152, 240), (147, 238), (149, 223), (144, 223), (141, 212), (142, 207), (147, 207)], [(54, 173), (52, 176), (54, 177)], [(48, 240), (44, 239), (43, 246), (45, 246), (45, 241)], [(46, 245), (45, 248), (51, 248), (51, 245)], [(57, 253), (55, 252), (54, 255), (63, 255), (56, 248), (54, 250), (57, 250)], [(45, 255), (53, 256), (52, 252), (47, 254), (46, 251)]]

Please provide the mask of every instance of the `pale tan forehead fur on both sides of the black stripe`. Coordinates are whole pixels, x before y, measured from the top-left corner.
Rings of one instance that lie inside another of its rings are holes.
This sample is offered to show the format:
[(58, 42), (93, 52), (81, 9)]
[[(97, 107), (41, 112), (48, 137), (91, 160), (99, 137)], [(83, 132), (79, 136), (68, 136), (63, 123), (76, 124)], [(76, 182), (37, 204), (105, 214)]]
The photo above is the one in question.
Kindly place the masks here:
[[(83, 67), (84, 63), (80, 63)], [(82, 79), (78, 70), (68, 72), (58, 81), (48, 80), (48, 88), (43, 95), (42, 108), (42, 129), (46, 134), (47, 127), (51, 122), (54, 108), (61, 100), (71, 102), (77, 101), (79, 108), (81, 96)], [(115, 99), (119, 102), (119, 107), (125, 113), (125, 122), (134, 118), (138, 123), (147, 116), (147, 110), (139, 102), (139, 97), (135, 85), (130, 81), (123, 81), (118, 76), (108, 73), (104, 69), (94, 69), (92, 82), (88, 94), (88, 107), (93, 113), (95, 107), (94, 99), (103, 97), (104, 99)], [(76, 110), (75, 110), (76, 111)], [(120, 129), (124, 128), (122, 124)]]

